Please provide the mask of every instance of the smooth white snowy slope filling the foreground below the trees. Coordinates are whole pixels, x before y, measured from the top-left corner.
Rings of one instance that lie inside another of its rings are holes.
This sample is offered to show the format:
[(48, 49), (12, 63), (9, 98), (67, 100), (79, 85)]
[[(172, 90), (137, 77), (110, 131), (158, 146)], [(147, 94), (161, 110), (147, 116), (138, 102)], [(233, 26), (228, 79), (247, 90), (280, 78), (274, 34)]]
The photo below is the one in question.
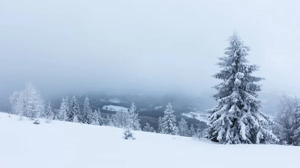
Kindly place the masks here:
[(33, 125), (0, 113), (0, 168), (296, 168), (300, 148), (219, 145), (155, 133), (54, 121)]

